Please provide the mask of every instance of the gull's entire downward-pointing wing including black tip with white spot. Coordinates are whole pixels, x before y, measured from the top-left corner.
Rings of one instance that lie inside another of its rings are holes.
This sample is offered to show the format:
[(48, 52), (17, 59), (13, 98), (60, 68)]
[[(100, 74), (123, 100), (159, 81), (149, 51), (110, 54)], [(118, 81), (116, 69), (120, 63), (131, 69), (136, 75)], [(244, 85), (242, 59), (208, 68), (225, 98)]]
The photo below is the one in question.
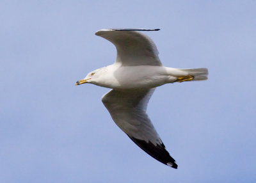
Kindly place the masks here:
[(146, 113), (150, 90), (110, 90), (102, 97), (114, 122), (129, 138), (161, 163), (177, 168)]

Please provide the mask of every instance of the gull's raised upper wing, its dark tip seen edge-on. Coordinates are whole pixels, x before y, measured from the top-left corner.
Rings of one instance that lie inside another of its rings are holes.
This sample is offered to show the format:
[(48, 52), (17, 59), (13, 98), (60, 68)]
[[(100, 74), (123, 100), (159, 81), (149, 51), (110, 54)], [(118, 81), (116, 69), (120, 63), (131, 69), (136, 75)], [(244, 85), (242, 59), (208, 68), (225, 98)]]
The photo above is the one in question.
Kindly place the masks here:
[(116, 47), (116, 63), (122, 66), (162, 65), (154, 42), (139, 31), (159, 29), (102, 29), (95, 33), (106, 38)]

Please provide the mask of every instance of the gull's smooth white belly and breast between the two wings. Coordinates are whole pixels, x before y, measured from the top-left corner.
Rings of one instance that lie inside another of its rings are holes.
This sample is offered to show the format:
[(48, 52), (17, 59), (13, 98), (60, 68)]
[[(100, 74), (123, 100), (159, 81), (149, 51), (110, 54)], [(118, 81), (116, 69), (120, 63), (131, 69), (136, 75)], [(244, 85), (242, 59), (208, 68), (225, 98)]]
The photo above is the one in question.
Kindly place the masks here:
[(172, 83), (176, 77), (170, 76), (165, 67), (132, 66), (107, 67), (107, 72), (97, 85), (119, 90), (155, 88), (166, 83)]

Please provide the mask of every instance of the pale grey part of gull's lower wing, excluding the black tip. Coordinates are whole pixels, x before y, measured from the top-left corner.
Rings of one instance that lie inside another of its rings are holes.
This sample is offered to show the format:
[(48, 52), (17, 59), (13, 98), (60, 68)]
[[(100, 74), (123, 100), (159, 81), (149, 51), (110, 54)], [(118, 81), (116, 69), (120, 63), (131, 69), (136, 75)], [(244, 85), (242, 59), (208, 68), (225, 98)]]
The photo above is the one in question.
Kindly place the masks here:
[(153, 92), (154, 89), (111, 90), (102, 97), (102, 102), (122, 131), (136, 139), (151, 141), (156, 145), (161, 143), (161, 139), (145, 113), (148, 100)]

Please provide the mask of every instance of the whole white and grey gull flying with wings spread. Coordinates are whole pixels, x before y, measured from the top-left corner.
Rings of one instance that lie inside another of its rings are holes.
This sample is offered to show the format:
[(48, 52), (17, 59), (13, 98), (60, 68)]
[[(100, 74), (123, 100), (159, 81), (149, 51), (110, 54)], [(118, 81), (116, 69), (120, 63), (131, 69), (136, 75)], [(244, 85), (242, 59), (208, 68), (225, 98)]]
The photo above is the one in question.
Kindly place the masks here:
[(207, 68), (164, 67), (154, 42), (141, 31), (160, 29), (101, 29), (95, 33), (116, 47), (112, 65), (89, 72), (76, 85), (91, 83), (111, 88), (102, 97), (112, 119), (142, 150), (157, 161), (177, 169), (146, 113), (157, 86), (207, 79)]

